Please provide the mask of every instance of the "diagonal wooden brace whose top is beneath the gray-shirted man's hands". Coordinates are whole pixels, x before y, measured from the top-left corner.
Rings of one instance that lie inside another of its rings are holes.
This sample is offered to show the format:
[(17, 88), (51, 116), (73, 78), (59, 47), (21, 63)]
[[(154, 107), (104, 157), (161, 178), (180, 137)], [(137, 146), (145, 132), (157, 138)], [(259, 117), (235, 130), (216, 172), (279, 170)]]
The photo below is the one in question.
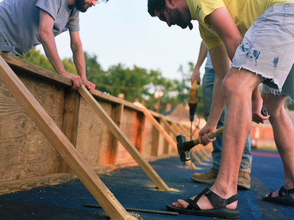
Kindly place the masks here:
[(150, 164), (142, 157), (139, 151), (131, 143), (128, 137), (122, 133), (119, 127), (113, 122), (113, 120), (107, 115), (102, 106), (94, 99), (85, 86), (79, 89), (81, 96), (92, 107), (93, 111), (100, 117), (100, 119), (106, 124), (109, 130), (114, 134), (118, 141), (126, 148), (126, 150), (133, 156), (135, 161), (139, 164), (142, 170), (149, 176), (149, 178), (155, 183), (155, 185), (161, 190), (170, 190)]

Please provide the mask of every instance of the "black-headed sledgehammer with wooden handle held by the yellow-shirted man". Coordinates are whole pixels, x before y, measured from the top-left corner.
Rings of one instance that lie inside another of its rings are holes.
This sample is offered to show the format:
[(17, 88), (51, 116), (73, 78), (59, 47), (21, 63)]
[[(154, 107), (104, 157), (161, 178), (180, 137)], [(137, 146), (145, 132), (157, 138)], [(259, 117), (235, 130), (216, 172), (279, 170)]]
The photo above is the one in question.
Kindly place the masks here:
[[(265, 107), (262, 106), (261, 108), (261, 115), (267, 116), (267, 110)], [(210, 139), (213, 137), (216, 137), (223, 133), (224, 127), (220, 127), (214, 131), (209, 132), (207, 135)], [(178, 153), (180, 154), (181, 161), (185, 162), (190, 159), (190, 149), (194, 146), (199, 144), (199, 140), (195, 139), (192, 141), (186, 141), (186, 135), (180, 134), (176, 136), (177, 139), (177, 147), (178, 147)]]

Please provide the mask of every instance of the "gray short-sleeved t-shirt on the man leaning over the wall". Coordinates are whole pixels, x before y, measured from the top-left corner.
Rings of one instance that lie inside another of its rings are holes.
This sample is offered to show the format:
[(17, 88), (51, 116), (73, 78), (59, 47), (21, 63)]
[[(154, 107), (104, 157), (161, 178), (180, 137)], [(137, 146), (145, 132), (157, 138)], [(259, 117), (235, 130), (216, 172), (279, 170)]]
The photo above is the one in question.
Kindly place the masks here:
[(17, 56), (41, 44), (39, 9), (54, 18), (54, 36), (67, 30), (80, 31), (79, 11), (69, 9), (66, 0), (4, 0), (0, 3), (0, 35), (15, 46)]

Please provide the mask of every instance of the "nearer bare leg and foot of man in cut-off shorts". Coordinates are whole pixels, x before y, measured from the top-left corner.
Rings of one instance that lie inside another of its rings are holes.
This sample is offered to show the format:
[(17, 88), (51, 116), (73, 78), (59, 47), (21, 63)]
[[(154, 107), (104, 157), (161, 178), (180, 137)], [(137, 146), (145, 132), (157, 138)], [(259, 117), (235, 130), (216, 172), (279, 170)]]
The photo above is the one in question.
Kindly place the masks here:
[[(237, 68), (232, 68), (223, 81), (227, 108), (223, 151), (218, 176), (211, 190), (224, 199), (237, 194), (241, 157), (252, 123), (252, 93), (260, 82), (260, 76)], [(197, 204), (202, 210), (213, 209), (206, 196), (202, 196)], [(178, 200), (173, 205), (187, 208), (188, 203)], [(236, 207), (237, 201), (227, 205), (231, 210)]]

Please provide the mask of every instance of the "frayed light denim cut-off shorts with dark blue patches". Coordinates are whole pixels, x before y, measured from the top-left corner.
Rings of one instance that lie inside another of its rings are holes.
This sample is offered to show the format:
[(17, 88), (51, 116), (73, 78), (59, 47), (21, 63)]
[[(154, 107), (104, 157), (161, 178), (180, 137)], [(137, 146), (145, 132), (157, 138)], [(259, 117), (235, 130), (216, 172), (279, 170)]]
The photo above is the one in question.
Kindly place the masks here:
[(268, 8), (245, 34), (232, 66), (261, 75), (262, 91), (294, 100), (294, 4)]

